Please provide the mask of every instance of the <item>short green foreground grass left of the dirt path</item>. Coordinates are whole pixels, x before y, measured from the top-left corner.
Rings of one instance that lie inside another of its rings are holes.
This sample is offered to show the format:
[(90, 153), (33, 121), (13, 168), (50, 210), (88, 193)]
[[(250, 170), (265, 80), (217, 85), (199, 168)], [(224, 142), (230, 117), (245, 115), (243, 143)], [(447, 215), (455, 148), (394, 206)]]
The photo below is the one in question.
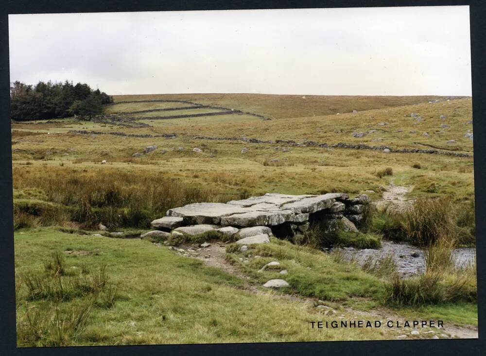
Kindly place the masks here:
[[(309, 305), (278, 298), (278, 294), (242, 290), (242, 280), (140, 239), (77, 236), (45, 228), (20, 230), (15, 234), (17, 282), (22, 273), (43, 270), (44, 261), (55, 251), (86, 251), (86, 255), (68, 254), (66, 265), (95, 271), (96, 266), (106, 264), (110, 278), (122, 281), (119, 299), (109, 310), (94, 306), (84, 331), (70, 339), (70, 345), (387, 338), (361, 329), (317, 333), (309, 322), (332, 317), (316, 315)], [(353, 284), (361, 293), (358, 283)], [(44, 303), (26, 301), (25, 288), (21, 285), (17, 293), (19, 320), (26, 317), (28, 308), (40, 308)], [(348, 298), (339, 291), (341, 287), (333, 288), (336, 297)], [(370, 292), (376, 289), (370, 288)], [(74, 298), (61, 307), (70, 310), (83, 300)]]

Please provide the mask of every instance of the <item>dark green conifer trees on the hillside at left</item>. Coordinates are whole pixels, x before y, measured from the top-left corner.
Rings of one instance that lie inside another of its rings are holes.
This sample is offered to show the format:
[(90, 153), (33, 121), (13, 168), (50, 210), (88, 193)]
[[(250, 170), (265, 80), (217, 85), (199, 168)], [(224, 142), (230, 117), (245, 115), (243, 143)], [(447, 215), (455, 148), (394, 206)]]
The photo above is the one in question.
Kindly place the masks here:
[(66, 81), (26, 85), (19, 81), (10, 86), (10, 118), (16, 121), (67, 118), (91, 119), (103, 111), (103, 104), (113, 98), (86, 83)]

